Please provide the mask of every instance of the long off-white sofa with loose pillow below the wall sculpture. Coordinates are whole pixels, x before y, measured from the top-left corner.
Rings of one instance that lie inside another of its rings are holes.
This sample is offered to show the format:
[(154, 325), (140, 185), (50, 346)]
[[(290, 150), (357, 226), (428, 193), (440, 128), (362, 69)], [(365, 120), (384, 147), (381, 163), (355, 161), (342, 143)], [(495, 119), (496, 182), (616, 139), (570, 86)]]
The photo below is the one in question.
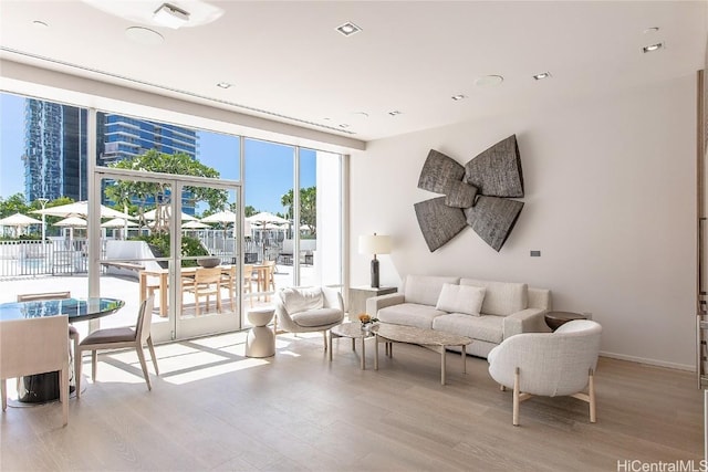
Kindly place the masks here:
[(548, 333), (551, 292), (524, 283), (408, 275), (403, 293), (368, 298), (366, 313), (382, 323), (439, 329), (473, 339), (467, 353), (487, 357), (519, 333)]

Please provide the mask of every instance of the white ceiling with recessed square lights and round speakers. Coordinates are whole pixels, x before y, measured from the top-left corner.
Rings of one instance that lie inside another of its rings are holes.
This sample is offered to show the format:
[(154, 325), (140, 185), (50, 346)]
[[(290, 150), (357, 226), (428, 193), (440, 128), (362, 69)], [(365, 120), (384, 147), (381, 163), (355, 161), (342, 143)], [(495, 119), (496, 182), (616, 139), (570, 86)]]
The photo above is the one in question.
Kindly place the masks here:
[[(708, 31), (705, 1), (212, 0), (218, 20), (178, 30), (148, 24), (160, 0), (113, 2), (146, 20), (77, 0), (0, 0), (0, 57), (362, 140), (691, 75)], [(341, 35), (346, 21), (363, 31)], [(164, 41), (128, 40), (134, 25)], [(488, 74), (504, 81), (475, 85)]]

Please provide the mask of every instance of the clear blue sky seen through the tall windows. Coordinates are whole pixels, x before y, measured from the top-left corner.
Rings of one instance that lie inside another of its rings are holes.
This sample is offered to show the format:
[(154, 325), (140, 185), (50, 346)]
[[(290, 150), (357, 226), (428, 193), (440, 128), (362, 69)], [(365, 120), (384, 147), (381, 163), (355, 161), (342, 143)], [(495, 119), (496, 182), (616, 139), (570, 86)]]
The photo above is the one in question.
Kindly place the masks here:
[[(221, 178), (239, 180), (238, 138), (198, 132), (199, 160)], [(246, 140), (246, 204), (258, 211), (284, 211), (280, 199), (292, 188), (293, 153), (290, 146)], [(0, 94), (0, 195), (24, 192), (24, 98)], [(315, 185), (315, 153), (301, 149), (301, 186)]]

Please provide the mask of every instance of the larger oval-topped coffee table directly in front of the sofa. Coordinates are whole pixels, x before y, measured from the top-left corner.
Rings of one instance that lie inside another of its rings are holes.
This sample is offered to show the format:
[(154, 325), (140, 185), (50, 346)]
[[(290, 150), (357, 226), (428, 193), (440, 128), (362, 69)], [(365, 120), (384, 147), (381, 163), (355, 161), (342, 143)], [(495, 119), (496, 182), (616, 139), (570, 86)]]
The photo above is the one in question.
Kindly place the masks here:
[(393, 357), (392, 343), (417, 344), (428, 349), (440, 353), (440, 384), (445, 385), (445, 349), (448, 346), (460, 346), (462, 350), (462, 374), (467, 374), (467, 345), (472, 343), (467, 336), (458, 336), (450, 333), (423, 329), (413, 326), (392, 325), (382, 323), (374, 332), (376, 334), (376, 355), (374, 356), (374, 369), (378, 370), (378, 343), (386, 343), (386, 354)]

